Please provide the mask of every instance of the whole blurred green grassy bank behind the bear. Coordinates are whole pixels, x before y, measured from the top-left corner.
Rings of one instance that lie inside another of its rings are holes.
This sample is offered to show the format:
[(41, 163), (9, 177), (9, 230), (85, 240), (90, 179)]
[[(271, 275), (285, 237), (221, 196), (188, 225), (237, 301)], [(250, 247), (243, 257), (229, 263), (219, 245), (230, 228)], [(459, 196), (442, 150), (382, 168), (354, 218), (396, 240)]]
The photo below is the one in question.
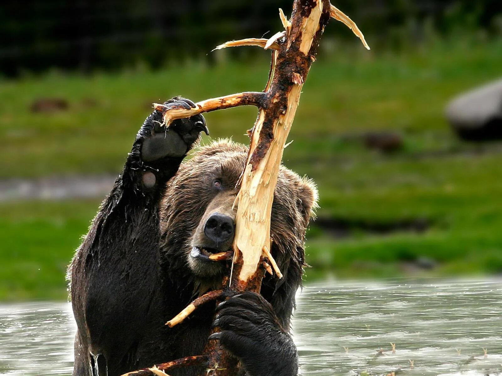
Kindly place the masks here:
[[(319, 185), (307, 279), (502, 272), (502, 144), (458, 141), (443, 116), (452, 96), (502, 76), (500, 61), (501, 40), (436, 41), (399, 55), (333, 44), (320, 54), (285, 150), (285, 164)], [(0, 82), (0, 178), (116, 174), (152, 102), (260, 91), (268, 65)], [(30, 112), (47, 97), (69, 108)], [(206, 119), (213, 138), (246, 142), (255, 117), (254, 108), (236, 108)], [(366, 148), (364, 134), (380, 131), (399, 135), (402, 146)], [(66, 265), (99, 202), (0, 204), (0, 300), (64, 299)]]

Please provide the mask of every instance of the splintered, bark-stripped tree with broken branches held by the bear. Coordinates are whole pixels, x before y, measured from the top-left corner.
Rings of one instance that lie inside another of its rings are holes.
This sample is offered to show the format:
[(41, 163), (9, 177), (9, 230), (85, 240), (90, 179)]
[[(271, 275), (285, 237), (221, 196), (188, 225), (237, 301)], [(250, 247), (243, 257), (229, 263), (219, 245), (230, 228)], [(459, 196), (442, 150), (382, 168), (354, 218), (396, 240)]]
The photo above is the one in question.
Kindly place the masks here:
[[(279, 10), (283, 31), (269, 39), (248, 38), (230, 41), (216, 49), (258, 46), (272, 52), (272, 62), (264, 92), (244, 92), (195, 103), (190, 109), (166, 107), (155, 104), (164, 112), (164, 125), (175, 119), (190, 117), (203, 112), (253, 105), (258, 107), (258, 119), (250, 132), (249, 151), (240, 179), (237, 195), (235, 238), (233, 242), (232, 270), (223, 280), (224, 291), (211, 291), (185, 308), (169, 326), (181, 323), (196, 307), (211, 299), (230, 296), (236, 292), (256, 291), (261, 288), (265, 272), (282, 278), (280, 266), (271, 251), (270, 219), (274, 190), (277, 183), (283, 150), (288, 137), (302, 87), (330, 17), (341, 21), (358, 36), (364, 46), (369, 46), (355, 23), (328, 0), (294, 0), (290, 20)], [(213, 255), (213, 260), (232, 257), (227, 254)], [(226, 286), (225, 286), (226, 284)], [(217, 328), (213, 329), (213, 332)], [(220, 347), (219, 341), (208, 341), (204, 349), (205, 376), (233, 376), (238, 373), (238, 361)], [(193, 358), (193, 357), (191, 357)], [(188, 358), (179, 359), (179, 362)], [(200, 361), (202, 358), (198, 358)], [(160, 374), (161, 366), (147, 371)], [(142, 370), (144, 372), (145, 370)], [(131, 372), (131, 375), (138, 374)], [(202, 374), (201, 374), (202, 376)]]

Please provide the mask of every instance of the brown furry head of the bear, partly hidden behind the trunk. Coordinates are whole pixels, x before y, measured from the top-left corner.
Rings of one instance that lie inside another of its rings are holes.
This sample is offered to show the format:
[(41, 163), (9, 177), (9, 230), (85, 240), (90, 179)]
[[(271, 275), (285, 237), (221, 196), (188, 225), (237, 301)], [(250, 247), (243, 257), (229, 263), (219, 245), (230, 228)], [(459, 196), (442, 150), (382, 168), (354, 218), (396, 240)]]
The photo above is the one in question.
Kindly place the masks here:
[[(163, 248), (184, 260), (196, 279), (221, 281), (224, 265), (208, 256), (232, 249), (236, 185), (246, 157), (245, 146), (215, 141), (197, 148), (167, 184), (160, 209)], [(272, 247), (275, 254), (292, 257), (298, 268), (304, 265), (305, 230), (316, 205), (315, 184), (281, 166), (272, 206)]]

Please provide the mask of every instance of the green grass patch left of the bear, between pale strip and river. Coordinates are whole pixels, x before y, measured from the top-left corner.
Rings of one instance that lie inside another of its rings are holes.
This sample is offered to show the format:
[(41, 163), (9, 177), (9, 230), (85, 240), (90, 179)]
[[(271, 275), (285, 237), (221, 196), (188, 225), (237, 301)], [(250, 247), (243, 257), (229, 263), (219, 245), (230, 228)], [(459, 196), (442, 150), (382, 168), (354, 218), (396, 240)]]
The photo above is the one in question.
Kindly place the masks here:
[(66, 268), (99, 201), (0, 206), (0, 301), (65, 299)]

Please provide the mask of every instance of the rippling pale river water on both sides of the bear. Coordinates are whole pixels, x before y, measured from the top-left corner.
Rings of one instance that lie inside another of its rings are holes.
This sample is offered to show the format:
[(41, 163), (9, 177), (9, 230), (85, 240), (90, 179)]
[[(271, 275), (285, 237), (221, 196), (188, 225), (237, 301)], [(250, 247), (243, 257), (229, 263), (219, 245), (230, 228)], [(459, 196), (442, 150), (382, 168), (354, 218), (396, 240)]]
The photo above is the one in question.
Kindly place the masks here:
[[(0, 305), (0, 374), (70, 374), (74, 333), (69, 303)], [(502, 375), (502, 280), (308, 285), (294, 338), (303, 375)]]

